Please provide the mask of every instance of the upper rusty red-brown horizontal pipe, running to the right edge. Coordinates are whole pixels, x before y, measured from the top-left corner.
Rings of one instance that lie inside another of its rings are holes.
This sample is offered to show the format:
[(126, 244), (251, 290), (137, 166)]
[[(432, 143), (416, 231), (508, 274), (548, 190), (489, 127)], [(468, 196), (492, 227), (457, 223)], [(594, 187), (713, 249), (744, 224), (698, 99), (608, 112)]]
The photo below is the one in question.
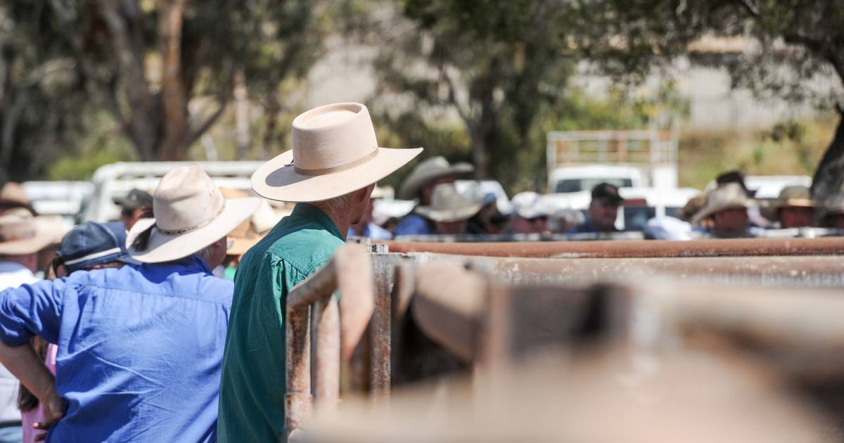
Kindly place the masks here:
[(387, 241), (391, 252), (437, 252), (486, 257), (770, 257), (844, 254), (844, 237), (820, 239), (723, 239), (647, 241), (549, 241), (436, 243)]

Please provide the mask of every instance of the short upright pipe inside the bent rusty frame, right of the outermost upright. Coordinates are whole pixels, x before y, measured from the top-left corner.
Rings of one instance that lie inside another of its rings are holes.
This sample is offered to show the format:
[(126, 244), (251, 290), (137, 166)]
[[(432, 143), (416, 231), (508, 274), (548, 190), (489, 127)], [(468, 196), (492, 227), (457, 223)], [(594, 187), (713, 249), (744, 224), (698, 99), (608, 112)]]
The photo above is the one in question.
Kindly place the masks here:
[(337, 408), (340, 397), (340, 316), (337, 300), (329, 296), (313, 307), (314, 402), (325, 411)]

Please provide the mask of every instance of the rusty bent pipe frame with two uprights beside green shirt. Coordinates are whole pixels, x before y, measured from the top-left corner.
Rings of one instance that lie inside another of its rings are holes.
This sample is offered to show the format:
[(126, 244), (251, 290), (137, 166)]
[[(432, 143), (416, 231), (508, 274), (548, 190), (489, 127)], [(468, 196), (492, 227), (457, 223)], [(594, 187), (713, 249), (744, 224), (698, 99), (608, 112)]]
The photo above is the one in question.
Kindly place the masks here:
[[(333, 259), (287, 295), (286, 395), (288, 436), (311, 416), (339, 400), (340, 358), (349, 358), (373, 311), (371, 260), (363, 246), (340, 248)], [(333, 296), (339, 290), (340, 300)], [(313, 340), (311, 343), (311, 319)], [(311, 383), (311, 347), (313, 358)], [(313, 386), (312, 386), (313, 385)]]

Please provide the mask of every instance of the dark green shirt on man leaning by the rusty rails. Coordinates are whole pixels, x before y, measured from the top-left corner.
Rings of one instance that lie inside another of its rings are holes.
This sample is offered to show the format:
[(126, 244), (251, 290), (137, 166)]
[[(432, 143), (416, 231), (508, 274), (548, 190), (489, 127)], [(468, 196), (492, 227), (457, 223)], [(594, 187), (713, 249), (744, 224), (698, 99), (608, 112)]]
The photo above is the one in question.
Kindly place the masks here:
[(319, 208), (296, 204), (246, 252), (235, 276), (219, 388), (220, 442), (284, 441), (284, 306), (344, 238)]

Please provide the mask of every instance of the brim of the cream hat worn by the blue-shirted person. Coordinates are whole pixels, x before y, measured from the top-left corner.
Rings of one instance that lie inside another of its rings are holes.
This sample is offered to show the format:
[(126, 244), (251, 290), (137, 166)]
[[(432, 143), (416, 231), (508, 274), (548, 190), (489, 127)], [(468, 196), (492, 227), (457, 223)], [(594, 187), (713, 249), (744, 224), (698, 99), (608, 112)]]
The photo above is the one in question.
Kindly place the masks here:
[(149, 245), (143, 251), (137, 251), (132, 243), (140, 233), (155, 224), (155, 219), (140, 219), (126, 237), (129, 257), (138, 262), (160, 263), (190, 256), (229, 235), (239, 224), (250, 218), (260, 204), (261, 199), (257, 197), (226, 199), (223, 212), (214, 221), (182, 235), (165, 235), (158, 228), (153, 228), (149, 235)]

